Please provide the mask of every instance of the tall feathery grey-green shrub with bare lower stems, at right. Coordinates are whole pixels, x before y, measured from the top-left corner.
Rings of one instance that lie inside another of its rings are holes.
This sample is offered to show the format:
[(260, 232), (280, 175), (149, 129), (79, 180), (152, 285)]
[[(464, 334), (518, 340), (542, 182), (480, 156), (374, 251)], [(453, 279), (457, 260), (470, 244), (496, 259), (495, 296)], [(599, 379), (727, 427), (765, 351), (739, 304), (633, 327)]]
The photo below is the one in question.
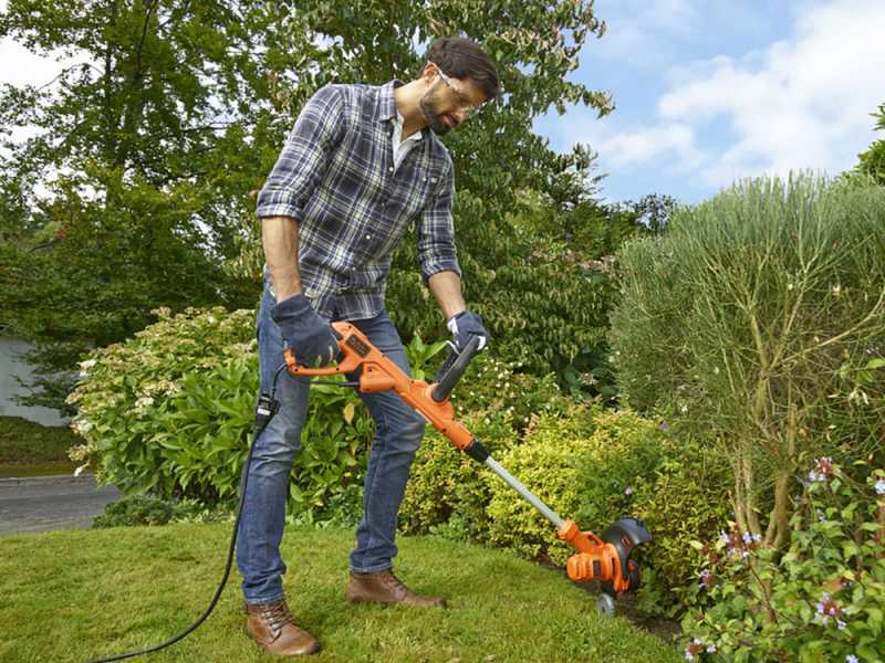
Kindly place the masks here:
[(883, 221), (881, 187), (760, 179), (620, 253), (610, 339), (623, 392), (725, 441), (736, 519), (767, 544), (790, 536), (806, 457), (881, 448)]

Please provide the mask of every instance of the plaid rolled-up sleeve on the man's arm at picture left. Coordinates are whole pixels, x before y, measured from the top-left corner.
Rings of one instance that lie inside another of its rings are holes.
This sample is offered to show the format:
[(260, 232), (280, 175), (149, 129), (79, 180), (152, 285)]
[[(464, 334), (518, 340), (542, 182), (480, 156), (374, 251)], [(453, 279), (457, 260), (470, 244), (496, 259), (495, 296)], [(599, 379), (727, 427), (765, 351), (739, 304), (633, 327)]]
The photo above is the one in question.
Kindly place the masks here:
[(258, 194), (256, 214), (303, 218), (304, 206), (344, 134), (344, 98), (326, 85), (306, 103)]

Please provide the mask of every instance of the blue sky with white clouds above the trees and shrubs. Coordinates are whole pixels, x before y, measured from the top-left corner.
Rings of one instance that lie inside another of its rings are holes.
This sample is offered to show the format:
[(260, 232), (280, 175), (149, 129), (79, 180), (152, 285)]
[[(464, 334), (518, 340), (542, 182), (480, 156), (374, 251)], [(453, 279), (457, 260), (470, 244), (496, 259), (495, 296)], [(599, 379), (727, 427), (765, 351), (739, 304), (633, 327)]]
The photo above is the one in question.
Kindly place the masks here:
[[(0, 11), (6, 9), (0, 0)], [(556, 151), (598, 154), (602, 197), (698, 202), (736, 179), (853, 167), (885, 102), (885, 0), (596, 0), (608, 24), (570, 78), (606, 90), (534, 123)], [(59, 64), (0, 40), (0, 82), (49, 82)], [(882, 137), (881, 135), (878, 137)]]

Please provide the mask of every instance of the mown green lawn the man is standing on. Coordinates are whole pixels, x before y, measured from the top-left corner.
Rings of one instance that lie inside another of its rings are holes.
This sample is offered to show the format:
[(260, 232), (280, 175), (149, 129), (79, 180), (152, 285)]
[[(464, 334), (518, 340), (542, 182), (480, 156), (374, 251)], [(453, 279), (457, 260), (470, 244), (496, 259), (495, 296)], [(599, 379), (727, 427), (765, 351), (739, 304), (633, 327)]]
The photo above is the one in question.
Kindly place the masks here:
[[(53, 532), (0, 538), (0, 661), (83, 661), (149, 646), (202, 613), (221, 576), (230, 525)], [(344, 601), (351, 530), (288, 529), (284, 585), (323, 661), (681, 660), (561, 572), (502, 550), (400, 537), (397, 573), (448, 610)], [(243, 632), (235, 571), (212, 615), (150, 661), (273, 661)]]

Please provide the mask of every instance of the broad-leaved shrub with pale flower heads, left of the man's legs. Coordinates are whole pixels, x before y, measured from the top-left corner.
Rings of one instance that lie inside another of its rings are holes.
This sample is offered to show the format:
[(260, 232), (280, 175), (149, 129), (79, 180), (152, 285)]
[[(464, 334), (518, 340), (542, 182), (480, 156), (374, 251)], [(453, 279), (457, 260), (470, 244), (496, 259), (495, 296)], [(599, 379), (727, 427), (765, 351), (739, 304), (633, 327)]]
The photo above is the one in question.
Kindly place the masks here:
[[(79, 407), (72, 428), (86, 444), (72, 457), (88, 462), (100, 481), (126, 494), (229, 496), (258, 389), (257, 370), (250, 371), (254, 314), (223, 308), (155, 313), (155, 325), (81, 364), (69, 402)], [(226, 398), (231, 386), (232, 403)], [(231, 417), (236, 427), (228, 424)], [(222, 425), (214, 451), (211, 432)]]

